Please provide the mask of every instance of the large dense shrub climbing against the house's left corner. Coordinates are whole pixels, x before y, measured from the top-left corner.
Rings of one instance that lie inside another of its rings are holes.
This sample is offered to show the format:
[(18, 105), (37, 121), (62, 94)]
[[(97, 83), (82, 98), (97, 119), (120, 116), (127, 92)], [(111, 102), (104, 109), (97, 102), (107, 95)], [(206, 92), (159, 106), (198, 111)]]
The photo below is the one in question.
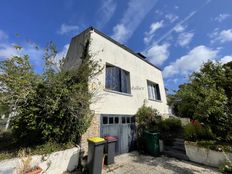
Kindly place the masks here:
[(17, 100), (17, 115), (11, 121), (13, 134), (23, 146), (48, 141), (79, 143), (92, 120), (89, 105), (95, 91), (89, 90), (88, 82), (101, 69), (89, 55), (89, 42), (84, 46), (82, 64), (68, 71), (54, 68), (56, 51), (50, 47), (45, 53), (44, 73), (38, 75), (32, 92)]

